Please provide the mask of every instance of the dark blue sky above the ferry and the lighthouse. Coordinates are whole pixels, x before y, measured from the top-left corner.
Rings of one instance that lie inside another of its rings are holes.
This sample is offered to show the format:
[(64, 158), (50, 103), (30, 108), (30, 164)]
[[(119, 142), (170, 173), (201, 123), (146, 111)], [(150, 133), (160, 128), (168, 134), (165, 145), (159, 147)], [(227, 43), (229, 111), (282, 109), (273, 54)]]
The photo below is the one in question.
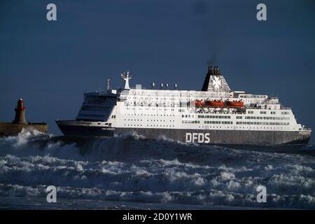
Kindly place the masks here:
[[(57, 21), (46, 20), (48, 3)], [(258, 3), (267, 22), (256, 20)], [(207, 64), (233, 90), (280, 97), (315, 129), (315, 1), (0, 1), (0, 120), (18, 97), (27, 120), (71, 119), (85, 90), (174, 83), (200, 90)]]

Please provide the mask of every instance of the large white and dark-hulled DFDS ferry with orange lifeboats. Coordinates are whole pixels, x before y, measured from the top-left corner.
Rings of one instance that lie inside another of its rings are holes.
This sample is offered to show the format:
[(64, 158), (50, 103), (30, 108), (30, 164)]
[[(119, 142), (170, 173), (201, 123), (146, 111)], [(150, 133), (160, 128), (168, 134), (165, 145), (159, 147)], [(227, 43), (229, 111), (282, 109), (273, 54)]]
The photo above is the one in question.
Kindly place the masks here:
[(162, 83), (85, 92), (76, 120), (56, 120), (64, 135), (113, 137), (137, 133), (197, 144), (304, 145), (311, 129), (297, 123), (277, 97), (232, 91), (218, 66), (209, 66), (201, 91), (169, 90)]

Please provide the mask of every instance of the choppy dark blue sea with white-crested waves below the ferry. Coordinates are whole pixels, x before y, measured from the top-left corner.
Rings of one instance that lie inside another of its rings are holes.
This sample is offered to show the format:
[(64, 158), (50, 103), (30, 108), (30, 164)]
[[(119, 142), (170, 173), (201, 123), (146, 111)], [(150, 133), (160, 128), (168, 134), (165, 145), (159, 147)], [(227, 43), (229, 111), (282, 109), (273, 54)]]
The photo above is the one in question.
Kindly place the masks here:
[[(200, 146), (137, 134), (0, 138), (0, 209), (315, 209), (315, 147)], [(57, 202), (46, 200), (47, 186)], [(265, 186), (266, 201), (257, 202)]]

